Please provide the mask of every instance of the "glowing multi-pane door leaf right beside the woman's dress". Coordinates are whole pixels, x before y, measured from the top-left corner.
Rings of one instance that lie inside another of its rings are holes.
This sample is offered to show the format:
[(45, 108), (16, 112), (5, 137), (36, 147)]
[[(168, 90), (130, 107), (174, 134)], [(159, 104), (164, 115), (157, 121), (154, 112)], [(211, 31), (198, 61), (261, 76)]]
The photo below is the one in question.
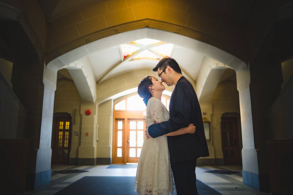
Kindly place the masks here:
[(127, 121), (126, 163), (137, 163), (145, 137), (146, 121), (142, 119), (128, 119)]

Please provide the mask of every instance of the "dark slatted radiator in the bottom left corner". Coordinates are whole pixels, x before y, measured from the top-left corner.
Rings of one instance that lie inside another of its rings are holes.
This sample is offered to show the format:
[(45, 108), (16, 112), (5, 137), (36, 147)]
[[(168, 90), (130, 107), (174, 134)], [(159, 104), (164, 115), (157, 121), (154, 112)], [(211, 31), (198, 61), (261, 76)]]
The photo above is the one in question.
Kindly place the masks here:
[(0, 139), (0, 194), (24, 193), (29, 141)]

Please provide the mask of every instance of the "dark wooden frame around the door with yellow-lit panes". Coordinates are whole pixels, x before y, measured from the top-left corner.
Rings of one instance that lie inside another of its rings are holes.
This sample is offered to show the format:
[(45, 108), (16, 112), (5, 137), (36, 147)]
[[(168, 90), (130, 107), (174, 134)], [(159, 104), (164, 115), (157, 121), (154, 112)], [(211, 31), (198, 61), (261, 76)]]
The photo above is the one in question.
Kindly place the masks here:
[(56, 144), (56, 119), (68, 119), (70, 121), (69, 124), (69, 129), (71, 129), (71, 131), (69, 131), (69, 135), (68, 135), (68, 163), (69, 164), (69, 158), (70, 158), (70, 151), (71, 151), (71, 136), (72, 136), (72, 117), (70, 113), (67, 112), (55, 112), (53, 113), (53, 124), (52, 124), (52, 138), (51, 138), (51, 149), (52, 149), (52, 160), (51, 160), (51, 164), (54, 164), (56, 161), (56, 152), (57, 152), (57, 144)]

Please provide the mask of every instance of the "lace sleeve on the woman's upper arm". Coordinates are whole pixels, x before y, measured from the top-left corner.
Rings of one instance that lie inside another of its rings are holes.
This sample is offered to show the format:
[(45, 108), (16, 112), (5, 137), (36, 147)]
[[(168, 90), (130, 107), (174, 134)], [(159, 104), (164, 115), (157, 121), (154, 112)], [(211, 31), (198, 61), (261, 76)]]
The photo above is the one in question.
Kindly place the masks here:
[(154, 99), (149, 105), (149, 114), (154, 123), (160, 123), (164, 120), (164, 109), (160, 100)]

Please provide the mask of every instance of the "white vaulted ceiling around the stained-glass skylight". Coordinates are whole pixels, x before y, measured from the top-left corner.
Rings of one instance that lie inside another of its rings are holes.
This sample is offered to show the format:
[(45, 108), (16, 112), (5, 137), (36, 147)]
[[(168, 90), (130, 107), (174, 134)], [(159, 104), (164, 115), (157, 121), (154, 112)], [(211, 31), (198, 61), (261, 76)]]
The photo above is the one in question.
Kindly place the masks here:
[[(191, 77), (194, 81), (197, 79), (204, 55), (194, 50), (174, 45), (170, 57), (174, 58), (179, 66), (186, 71), (183, 71), (183, 75)], [(94, 52), (88, 55), (88, 58), (92, 65), (96, 81), (99, 81), (99, 83), (126, 71), (140, 68), (152, 69), (159, 62), (159, 60), (154, 59), (139, 59), (121, 63), (119, 45), (114, 47), (109, 46), (109, 48)], [(101, 78), (102, 76), (103, 78)]]

